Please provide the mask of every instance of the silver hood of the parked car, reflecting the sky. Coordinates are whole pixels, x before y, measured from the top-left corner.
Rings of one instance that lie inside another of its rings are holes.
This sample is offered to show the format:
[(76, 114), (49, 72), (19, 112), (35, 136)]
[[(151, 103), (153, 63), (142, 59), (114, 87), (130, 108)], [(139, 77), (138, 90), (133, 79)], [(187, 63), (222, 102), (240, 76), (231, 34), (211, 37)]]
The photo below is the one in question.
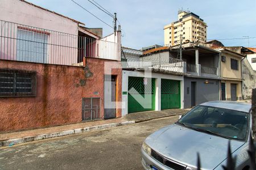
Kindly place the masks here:
[[(148, 136), (146, 144), (164, 157), (196, 167), (197, 152), (201, 168), (213, 169), (227, 157), (229, 139), (172, 124)], [(232, 152), (245, 142), (230, 141)]]

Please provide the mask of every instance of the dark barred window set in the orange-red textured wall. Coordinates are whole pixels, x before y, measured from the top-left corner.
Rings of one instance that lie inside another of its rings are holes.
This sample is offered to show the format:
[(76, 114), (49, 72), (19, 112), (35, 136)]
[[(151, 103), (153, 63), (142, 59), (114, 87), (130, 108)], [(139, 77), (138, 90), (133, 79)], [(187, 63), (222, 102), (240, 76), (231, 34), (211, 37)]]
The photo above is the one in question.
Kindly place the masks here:
[(0, 69), (0, 97), (36, 96), (36, 71)]

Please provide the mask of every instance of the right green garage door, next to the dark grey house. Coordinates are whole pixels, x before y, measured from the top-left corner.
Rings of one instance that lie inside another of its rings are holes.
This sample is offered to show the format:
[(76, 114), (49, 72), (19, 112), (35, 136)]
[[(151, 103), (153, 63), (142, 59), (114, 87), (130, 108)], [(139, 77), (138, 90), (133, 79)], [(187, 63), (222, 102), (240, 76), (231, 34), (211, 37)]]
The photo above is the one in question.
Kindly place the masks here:
[(161, 109), (180, 108), (180, 81), (161, 79)]

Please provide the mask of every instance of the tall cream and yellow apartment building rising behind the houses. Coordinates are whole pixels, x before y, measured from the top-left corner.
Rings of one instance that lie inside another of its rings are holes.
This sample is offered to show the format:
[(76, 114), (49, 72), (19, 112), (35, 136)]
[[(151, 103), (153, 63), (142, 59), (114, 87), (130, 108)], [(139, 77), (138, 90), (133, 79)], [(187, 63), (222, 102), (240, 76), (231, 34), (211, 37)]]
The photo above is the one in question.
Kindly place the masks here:
[(178, 20), (164, 26), (164, 44), (180, 44), (184, 41), (203, 43), (207, 41), (207, 23), (190, 11), (178, 11)]

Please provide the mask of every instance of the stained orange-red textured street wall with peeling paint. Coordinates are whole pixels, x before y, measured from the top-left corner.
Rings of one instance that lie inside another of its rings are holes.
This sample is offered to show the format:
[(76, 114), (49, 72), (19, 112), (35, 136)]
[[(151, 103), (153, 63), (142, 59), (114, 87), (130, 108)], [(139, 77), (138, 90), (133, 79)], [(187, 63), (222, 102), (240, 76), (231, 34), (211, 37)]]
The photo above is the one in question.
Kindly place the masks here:
[[(0, 131), (80, 122), (82, 97), (101, 97), (104, 118), (105, 61), (87, 58), (93, 76), (86, 79), (84, 67), (2, 60), (1, 69), (36, 71), (36, 97), (0, 97)], [(117, 75), (117, 100), (121, 101), (122, 70), (112, 74)], [(117, 117), (121, 117), (121, 109), (117, 109)]]

